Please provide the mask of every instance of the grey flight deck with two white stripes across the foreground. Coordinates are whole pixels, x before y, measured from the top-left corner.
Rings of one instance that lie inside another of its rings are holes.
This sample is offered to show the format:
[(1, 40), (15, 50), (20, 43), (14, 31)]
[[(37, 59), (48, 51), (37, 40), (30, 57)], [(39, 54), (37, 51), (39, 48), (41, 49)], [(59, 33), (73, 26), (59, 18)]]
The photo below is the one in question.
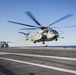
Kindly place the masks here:
[(76, 75), (76, 49), (0, 48), (0, 75)]

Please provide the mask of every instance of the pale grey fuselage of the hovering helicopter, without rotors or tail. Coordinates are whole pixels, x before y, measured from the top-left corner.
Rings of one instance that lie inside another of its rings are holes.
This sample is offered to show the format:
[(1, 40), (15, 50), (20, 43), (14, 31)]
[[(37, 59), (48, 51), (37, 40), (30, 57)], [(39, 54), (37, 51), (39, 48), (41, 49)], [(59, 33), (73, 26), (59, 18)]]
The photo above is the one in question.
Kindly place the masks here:
[(59, 34), (56, 30), (52, 29), (44, 29), (38, 31), (34, 36), (31, 37), (31, 41), (36, 42), (44, 42), (44, 41), (52, 41), (57, 40)]

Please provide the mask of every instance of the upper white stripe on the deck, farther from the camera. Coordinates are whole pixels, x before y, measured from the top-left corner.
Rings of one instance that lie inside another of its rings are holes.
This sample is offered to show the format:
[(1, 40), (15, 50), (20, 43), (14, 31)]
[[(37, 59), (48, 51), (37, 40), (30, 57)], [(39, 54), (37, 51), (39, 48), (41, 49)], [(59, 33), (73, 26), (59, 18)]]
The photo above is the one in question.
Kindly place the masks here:
[[(0, 53), (1, 53), (1, 52), (0, 52)], [(30, 56), (30, 57), (53, 58), (53, 59), (61, 59), (61, 60), (76, 61), (76, 58), (71, 58), (71, 57), (46, 56), (46, 55), (22, 54), (22, 53), (9, 53), (9, 52), (2, 52), (2, 53), (4, 53), (4, 54), (21, 55), (21, 56)]]

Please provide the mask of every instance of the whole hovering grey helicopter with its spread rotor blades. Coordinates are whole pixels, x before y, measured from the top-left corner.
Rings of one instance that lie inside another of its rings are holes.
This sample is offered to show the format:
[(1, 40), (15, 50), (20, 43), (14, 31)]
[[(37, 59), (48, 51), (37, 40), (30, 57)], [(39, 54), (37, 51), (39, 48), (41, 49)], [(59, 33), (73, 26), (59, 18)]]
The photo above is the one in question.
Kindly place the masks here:
[[(28, 33), (24, 33), (24, 32), (19, 32), (21, 34), (26, 35), (26, 40), (31, 40), (32, 42), (36, 43), (36, 42), (42, 42), (43, 44), (45, 44), (45, 41), (57, 41), (58, 37), (59, 37), (59, 33), (57, 30), (54, 30), (53, 27), (50, 27), (52, 25), (54, 25), (55, 23), (64, 20), (68, 17), (71, 17), (72, 14), (68, 14), (60, 19), (58, 19), (57, 21), (49, 24), (48, 26), (44, 27), (42, 26), (36, 19), (35, 17), (32, 15), (31, 12), (26, 12), (26, 14), (38, 25), (38, 26), (34, 26), (34, 25), (29, 25), (29, 24), (23, 24), (23, 23), (19, 23), (19, 22), (14, 22), (14, 21), (8, 21), (10, 23), (14, 23), (14, 24), (19, 24), (19, 25), (23, 25), (23, 26), (28, 26), (29, 28), (23, 28), (21, 30), (35, 30), (35, 29), (41, 29), (40, 31), (38, 31), (35, 35), (33, 36), (29, 36), (29, 32)], [(76, 26), (65, 26), (66, 27), (76, 27)], [(60, 28), (60, 27), (59, 27)], [(62, 27), (63, 28), (63, 27)], [(63, 37), (62, 37), (63, 38)]]

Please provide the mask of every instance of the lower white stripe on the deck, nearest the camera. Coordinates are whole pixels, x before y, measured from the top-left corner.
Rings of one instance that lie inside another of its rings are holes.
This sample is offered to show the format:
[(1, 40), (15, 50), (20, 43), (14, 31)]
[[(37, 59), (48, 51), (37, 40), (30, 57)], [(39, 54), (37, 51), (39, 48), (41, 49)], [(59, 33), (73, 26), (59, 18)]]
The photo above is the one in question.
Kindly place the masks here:
[(21, 61), (21, 60), (14, 60), (14, 59), (3, 58), (3, 57), (0, 57), (0, 59), (13, 61), (13, 62), (16, 62), (16, 63), (21, 63), (21, 64), (28, 64), (28, 65), (32, 65), (32, 66), (47, 68), (47, 69), (53, 69), (53, 70), (66, 72), (66, 73), (76, 74), (75, 70), (63, 69), (63, 68), (58, 68), (58, 67), (54, 67), (54, 66), (47, 66), (47, 65), (42, 65), (42, 64), (32, 63), (32, 62), (26, 62), (26, 61)]

